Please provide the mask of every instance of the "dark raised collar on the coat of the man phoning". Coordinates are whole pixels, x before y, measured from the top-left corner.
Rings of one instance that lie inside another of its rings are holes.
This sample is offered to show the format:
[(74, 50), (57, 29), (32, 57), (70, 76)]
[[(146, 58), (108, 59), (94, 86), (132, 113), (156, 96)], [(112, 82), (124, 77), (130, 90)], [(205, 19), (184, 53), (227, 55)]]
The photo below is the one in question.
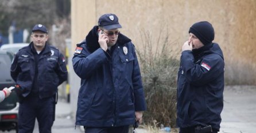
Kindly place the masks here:
[[(100, 48), (99, 42), (98, 42), (98, 31), (99, 26), (94, 26), (94, 28), (92, 28), (92, 30), (87, 34), (86, 36), (86, 40), (82, 41), (82, 43), (87, 43), (88, 46), (88, 50), (90, 50), (90, 52), (94, 52), (96, 49)], [(118, 38), (117, 38), (117, 44), (118, 45), (124, 45), (127, 42), (130, 42), (130, 38), (126, 37), (123, 34), (119, 34)]]

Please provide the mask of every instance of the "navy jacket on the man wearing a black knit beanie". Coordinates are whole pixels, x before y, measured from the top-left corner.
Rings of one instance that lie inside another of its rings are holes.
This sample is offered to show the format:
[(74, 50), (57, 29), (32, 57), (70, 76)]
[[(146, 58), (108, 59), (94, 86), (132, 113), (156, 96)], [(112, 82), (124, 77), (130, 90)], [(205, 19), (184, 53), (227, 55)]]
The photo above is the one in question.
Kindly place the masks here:
[(223, 109), (224, 58), (218, 44), (181, 53), (177, 87), (177, 125), (200, 124), (219, 130)]

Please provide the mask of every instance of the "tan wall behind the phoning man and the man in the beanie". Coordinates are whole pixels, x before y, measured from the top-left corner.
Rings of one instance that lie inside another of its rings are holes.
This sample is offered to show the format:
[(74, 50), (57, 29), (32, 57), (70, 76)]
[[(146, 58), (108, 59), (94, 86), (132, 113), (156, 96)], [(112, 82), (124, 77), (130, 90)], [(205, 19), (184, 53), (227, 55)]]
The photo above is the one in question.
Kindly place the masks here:
[(181, 50), (188, 40), (189, 27), (197, 21), (209, 21), (227, 67), (232, 62), (256, 67), (254, 0), (72, 0), (71, 4), (73, 49), (105, 13), (118, 15), (121, 32), (139, 49), (143, 49), (141, 33), (148, 32), (153, 44), (161, 33), (173, 42), (173, 49)]

